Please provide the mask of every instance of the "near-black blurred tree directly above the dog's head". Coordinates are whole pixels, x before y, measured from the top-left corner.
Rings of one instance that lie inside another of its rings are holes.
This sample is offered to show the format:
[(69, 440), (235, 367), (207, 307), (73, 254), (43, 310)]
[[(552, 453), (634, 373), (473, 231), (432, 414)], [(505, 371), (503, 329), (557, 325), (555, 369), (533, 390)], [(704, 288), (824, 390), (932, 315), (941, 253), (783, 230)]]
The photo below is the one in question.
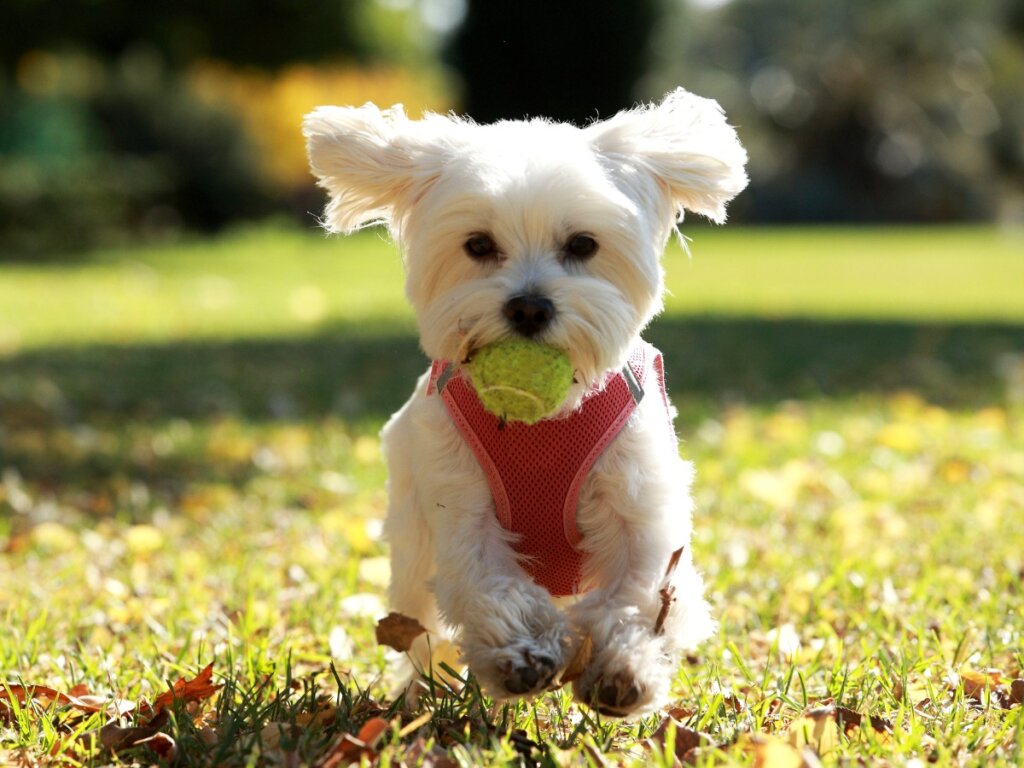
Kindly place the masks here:
[(450, 57), (480, 122), (585, 123), (635, 98), (657, 0), (468, 0)]

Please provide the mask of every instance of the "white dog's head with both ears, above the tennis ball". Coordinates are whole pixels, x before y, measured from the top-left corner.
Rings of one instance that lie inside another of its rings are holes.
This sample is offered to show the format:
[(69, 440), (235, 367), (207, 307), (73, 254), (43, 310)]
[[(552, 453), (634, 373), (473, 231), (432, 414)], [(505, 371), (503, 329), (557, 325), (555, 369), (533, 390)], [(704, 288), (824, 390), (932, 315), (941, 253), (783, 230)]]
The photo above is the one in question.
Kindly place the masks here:
[(621, 366), (660, 308), (683, 210), (721, 221), (746, 183), (718, 105), (682, 90), (583, 129), (368, 104), (321, 108), (305, 135), (326, 225), (383, 221), (401, 245), (430, 357), (519, 334), (568, 350), (583, 383)]

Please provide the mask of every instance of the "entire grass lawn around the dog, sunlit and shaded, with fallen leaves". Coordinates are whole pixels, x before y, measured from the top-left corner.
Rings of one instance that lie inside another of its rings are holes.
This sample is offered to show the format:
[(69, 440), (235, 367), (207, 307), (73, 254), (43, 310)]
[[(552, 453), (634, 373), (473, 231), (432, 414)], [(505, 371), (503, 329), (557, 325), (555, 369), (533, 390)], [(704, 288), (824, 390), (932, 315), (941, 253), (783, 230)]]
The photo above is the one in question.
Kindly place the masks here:
[[(670, 251), (649, 336), (721, 626), (674, 710), (632, 724), (564, 692), (386, 700), (376, 431), (424, 360), (374, 234), (0, 266), (0, 762), (671, 765), (695, 731), (699, 765), (1024, 763), (1021, 243)], [(210, 664), (223, 688), (158, 716), (173, 751), (2, 692), (113, 697), (144, 726), (138, 702)]]

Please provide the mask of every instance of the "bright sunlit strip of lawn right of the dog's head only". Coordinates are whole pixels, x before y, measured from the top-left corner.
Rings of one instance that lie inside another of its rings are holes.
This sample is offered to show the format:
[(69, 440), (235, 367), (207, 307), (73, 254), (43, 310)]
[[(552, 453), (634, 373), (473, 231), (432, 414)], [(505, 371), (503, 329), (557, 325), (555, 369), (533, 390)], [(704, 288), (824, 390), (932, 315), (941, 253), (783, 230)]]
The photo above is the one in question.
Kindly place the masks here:
[(1024, 319), (1024, 229), (697, 228), (666, 264), (672, 313)]

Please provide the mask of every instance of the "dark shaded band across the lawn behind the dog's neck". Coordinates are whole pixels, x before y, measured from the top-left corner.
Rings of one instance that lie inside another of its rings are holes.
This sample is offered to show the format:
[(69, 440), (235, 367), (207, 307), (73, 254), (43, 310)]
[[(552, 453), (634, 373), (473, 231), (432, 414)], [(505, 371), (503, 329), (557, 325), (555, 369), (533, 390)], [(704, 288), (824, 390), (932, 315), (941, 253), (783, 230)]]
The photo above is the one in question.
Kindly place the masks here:
[[(1024, 326), (664, 317), (645, 337), (665, 352), (683, 419), (696, 418), (689, 402), (714, 410), (908, 389), (975, 408), (1024, 396), (1011, 391), (1024, 387)], [(29, 461), (16, 446), (30, 432), (90, 425), (334, 417), (373, 429), (409, 396), (426, 362), (408, 325), (14, 354), (0, 358), (0, 467), (66, 476), (59, 453)]]

